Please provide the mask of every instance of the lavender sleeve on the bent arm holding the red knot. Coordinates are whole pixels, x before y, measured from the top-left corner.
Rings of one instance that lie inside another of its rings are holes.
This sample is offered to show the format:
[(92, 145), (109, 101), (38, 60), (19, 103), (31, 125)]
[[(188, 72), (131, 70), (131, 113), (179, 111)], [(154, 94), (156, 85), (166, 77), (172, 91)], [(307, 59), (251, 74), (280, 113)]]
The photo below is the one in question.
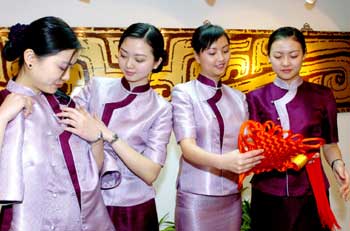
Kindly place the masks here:
[(187, 92), (175, 86), (172, 92), (173, 122), (176, 141), (196, 139), (196, 123), (191, 98)]

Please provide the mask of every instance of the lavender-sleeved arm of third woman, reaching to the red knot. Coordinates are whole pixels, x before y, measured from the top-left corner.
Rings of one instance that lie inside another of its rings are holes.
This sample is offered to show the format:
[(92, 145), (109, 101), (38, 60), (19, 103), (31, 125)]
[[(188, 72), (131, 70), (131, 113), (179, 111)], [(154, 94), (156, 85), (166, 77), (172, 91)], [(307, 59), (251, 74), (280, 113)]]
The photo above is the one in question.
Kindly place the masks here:
[(175, 87), (172, 93), (174, 132), (186, 160), (202, 165), (224, 169), (234, 173), (248, 171), (263, 158), (262, 150), (241, 155), (234, 150), (223, 155), (211, 153), (199, 147), (196, 142), (194, 108), (185, 89)]

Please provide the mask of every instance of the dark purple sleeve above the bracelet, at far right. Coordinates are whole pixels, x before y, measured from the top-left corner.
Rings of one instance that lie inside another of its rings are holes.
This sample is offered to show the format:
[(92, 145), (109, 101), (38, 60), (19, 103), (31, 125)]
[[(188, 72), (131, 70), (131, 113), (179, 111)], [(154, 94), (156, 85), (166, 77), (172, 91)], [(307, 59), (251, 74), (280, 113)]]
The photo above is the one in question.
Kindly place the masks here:
[(337, 124), (337, 104), (333, 95), (333, 92), (329, 89), (328, 94), (324, 102), (325, 113), (322, 123), (322, 137), (326, 140), (326, 143), (337, 143), (338, 138), (338, 124)]

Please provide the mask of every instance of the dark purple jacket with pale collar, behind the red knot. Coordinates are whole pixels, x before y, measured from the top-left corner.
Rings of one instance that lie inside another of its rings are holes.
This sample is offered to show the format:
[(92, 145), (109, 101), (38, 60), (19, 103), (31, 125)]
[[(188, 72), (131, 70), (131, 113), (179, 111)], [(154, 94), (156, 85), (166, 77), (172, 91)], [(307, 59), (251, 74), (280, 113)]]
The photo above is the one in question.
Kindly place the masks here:
[[(326, 143), (338, 142), (336, 103), (327, 87), (302, 79), (296, 79), (289, 87), (276, 78), (274, 83), (248, 93), (247, 101), (252, 120), (261, 123), (272, 120), (304, 137), (322, 137)], [(326, 177), (325, 180), (328, 187)], [(300, 196), (312, 191), (305, 168), (255, 175), (252, 187), (277, 196)]]

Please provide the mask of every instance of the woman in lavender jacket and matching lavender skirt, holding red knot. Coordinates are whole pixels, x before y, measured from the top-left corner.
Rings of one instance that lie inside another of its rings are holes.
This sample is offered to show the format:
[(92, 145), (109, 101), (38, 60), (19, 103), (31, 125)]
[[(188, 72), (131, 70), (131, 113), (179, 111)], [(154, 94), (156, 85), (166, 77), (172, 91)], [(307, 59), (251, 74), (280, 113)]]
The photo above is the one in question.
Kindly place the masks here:
[(237, 150), (248, 112), (244, 94), (221, 82), (230, 58), (229, 41), (220, 26), (198, 27), (192, 47), (200, 74), (172, 92), (174, 132), (182, 149), (175, 210), (178, 231), (240, 230), (238, 174), (262, 158), (262, 150), (244, 155)]

